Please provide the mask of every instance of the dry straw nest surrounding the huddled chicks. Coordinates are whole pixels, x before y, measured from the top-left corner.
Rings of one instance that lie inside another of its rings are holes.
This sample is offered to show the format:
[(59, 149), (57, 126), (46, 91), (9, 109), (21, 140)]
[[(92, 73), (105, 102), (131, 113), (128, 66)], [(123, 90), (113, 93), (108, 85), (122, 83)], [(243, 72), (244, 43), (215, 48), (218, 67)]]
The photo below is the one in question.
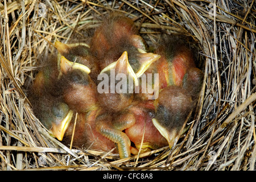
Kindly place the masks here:
[[(86, 42), (113, 11), (133, 19), (147, 44), (182, 34), (199, 45), (204, 84), (176, 146), (119, 159), (69, 148), (35, 117), (27, 91), (54, 42)], [(250, 1), (2, 1), (0, 169), (255, 170), (255, 3)]]

